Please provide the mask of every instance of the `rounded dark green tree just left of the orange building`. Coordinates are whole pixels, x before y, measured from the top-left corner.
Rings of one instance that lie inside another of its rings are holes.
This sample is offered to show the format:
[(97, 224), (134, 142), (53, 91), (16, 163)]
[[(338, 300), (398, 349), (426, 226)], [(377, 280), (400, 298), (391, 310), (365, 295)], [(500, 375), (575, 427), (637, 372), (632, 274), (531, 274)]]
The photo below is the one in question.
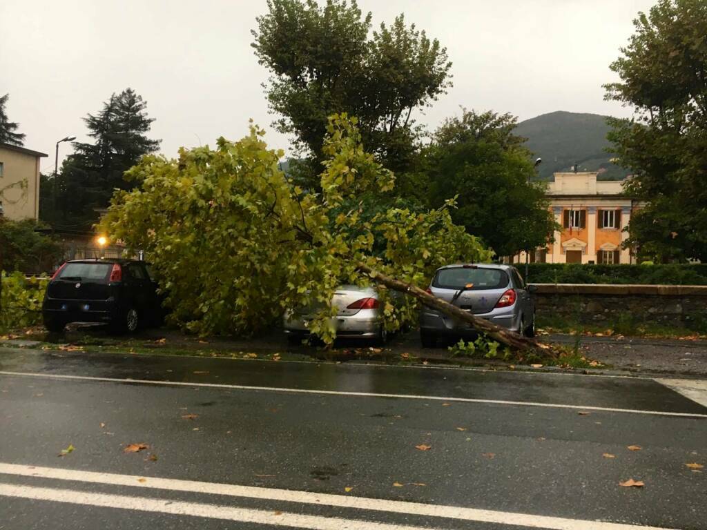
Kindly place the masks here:
[(544, 247), (555, 228), (544, 184), (531, 182), (531, 153), (513, 134), (515, 125), (510, 114), (463, 110), (437, 129), (422, 153), (432, 206), (456, 197), (452, 219), (499, 257)]

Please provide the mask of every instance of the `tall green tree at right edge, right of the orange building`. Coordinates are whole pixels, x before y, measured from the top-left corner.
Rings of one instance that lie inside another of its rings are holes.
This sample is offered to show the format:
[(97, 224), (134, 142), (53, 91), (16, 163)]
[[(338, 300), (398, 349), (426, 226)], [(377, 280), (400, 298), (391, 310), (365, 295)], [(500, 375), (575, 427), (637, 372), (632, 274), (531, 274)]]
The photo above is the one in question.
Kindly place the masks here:
[(636, 33), (611, 68), (621, 81), (606, 98), (633, 107), (612, 120), (633, 213), (629, 245), (657, 261), (707, 260), (707, 3), (660, 0), (633, 22)]

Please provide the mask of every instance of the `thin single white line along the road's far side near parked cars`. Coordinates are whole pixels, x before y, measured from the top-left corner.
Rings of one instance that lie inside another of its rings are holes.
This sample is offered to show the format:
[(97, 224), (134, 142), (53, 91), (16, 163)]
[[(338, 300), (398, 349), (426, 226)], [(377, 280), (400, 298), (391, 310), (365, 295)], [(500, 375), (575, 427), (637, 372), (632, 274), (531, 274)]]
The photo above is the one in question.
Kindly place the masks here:
[(419, 396), (416, 394), (378, 394), (373, 392), (346, 392), (339, 390), (315, 390), (283, 387), (252, 387), (243, 384), (221, 384), (221, 383), (187, 383), (183, 381), (157, 381), (154, 379), (120, 379), (117, 377), (93, 377), (88, 375), (61, 375), (61, 374), (41, 374), (35, 372), (7, 372), (0, 371), (0, 375), (12, 375), (19, 377), (42, 377), (45, 379), (66, 379), (70, 381), (99, 381), (111, 383), (130, 384), (159, 384), (169, 387), (206, 387), (233, 390), (256, 390), (269, 392), (290, 392), (293, 394), (320, 394), (327, 396), (358, 396), (358, 397), (378, 397), (378, 398), (399, 398), (399, 399), (422, 399), (428, 401), (457, 401), (460, 403), (481, 403), (491, 405), (515, 405), (533, 406), (546, 408), (571, 408), (581, 411), (606, 411), (606, 412), (626, 412), (634, 414), (650, 414), (653, 416), (679, 416), (683, 418), (707, 418), (707, 414), (689, 412), (666, 412), (666, 411), (642, 411), (636, 408), (612, 408), (592, 405), (567, 405), (557, 403), (536, 403), (534, 401), (508, 401), (506, 399), (476, 399), (445, 396)]

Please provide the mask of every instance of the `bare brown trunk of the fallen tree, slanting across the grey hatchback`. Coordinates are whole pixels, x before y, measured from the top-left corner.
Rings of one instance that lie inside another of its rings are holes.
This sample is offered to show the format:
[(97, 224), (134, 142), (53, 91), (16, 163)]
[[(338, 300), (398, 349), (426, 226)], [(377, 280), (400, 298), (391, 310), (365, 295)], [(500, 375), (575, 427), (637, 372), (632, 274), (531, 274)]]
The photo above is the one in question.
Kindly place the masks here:
[(509, 331), (501, 326), (496, 326), (496, 324), (492, 324), (486, 319), (482, 319), (472, 313), (466, 312), (456, 305), (445, 302), (445, 300), (437, 298), (436, 296), (427, 293), (415, 285), (409, 285), (402, 281), (396, 280), (395, 278), (391, 278), (390, 276), (374, 271), (368, 265), (363, 263), (358, 264), (358, 270), (368, 274), (373, 281), (382, 283), (387, 288), (414, 296), (418, 300), (421, 300), (425, 305), (434, 307), (436, 310), (439, 310), (444, 314), (448, 314), (452, 318), (472, 324), (474, 329), (477, 331), (482, 331), (494, 340), (506, 344), (506, 346), (510, 346), (511, 348), (516, 348), (521, 351), (532, 351), (532, 353), (542, 355), (543, 357), (557, 357), (557, 353), (554, 351), (554, 348), (540, 344), (532, 338), (527, 338), (520, 334), (514, 333), (513, 331)]

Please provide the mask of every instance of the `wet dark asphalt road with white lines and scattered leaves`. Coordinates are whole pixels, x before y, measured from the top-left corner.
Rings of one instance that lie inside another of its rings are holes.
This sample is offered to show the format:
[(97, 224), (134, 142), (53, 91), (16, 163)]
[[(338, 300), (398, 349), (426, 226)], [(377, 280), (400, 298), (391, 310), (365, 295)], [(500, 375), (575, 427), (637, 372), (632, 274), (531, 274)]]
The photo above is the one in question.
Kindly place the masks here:
[(652, 379), (9, 348), (0, 372), (0, 529), (707, 529), (707, 473), (685, 466), (707, 465), (707, 408)]

